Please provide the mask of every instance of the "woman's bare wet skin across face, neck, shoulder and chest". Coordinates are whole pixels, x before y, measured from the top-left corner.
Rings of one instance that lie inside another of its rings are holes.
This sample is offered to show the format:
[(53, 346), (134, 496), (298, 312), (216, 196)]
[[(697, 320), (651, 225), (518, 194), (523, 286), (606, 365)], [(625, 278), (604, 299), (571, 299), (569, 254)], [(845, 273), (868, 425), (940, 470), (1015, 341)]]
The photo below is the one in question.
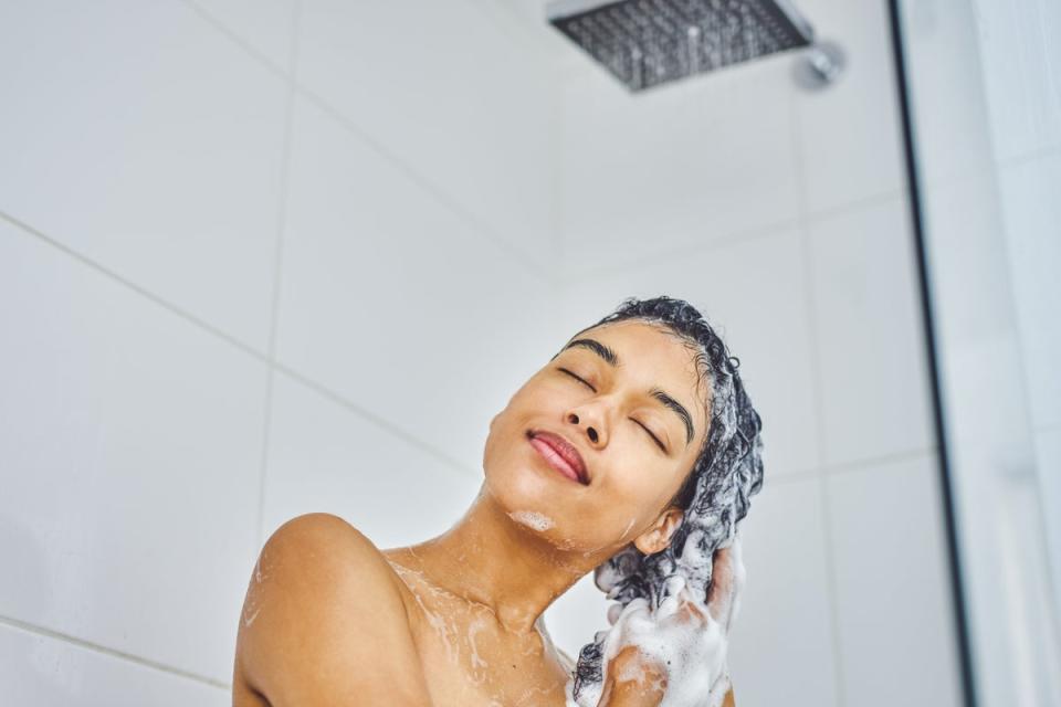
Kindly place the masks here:
[[(483, 485), (447, 532), (380, 550), (335, 516), (288, 521), (250, 580), (233, 705), (564, 705), (571, 665), (543, 612), (630, 542), (666, 547), (681, 520), (669, 500), (706, 434), (705, 391), (669, 331), (596, 327), (491, 421)], [(572, 444), (589, 483), (550, 465), (533, 430)], [(610, 707), (661, 697), (609, 685)]]

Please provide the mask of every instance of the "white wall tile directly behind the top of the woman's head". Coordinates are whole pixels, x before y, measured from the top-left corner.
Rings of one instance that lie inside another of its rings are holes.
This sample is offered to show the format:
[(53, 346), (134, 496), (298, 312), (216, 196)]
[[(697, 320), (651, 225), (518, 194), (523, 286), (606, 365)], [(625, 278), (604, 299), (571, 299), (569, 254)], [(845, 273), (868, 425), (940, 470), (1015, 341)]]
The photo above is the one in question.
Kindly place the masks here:
[(561, 289), (564, 339), (628, 296), (665, 294), (695, 305), (740, 359), (748, 395), (769, 440), (769, 475), (818, 465), (807, 282), (799, 233), (780, 231), (674, 257), (579, 277)]

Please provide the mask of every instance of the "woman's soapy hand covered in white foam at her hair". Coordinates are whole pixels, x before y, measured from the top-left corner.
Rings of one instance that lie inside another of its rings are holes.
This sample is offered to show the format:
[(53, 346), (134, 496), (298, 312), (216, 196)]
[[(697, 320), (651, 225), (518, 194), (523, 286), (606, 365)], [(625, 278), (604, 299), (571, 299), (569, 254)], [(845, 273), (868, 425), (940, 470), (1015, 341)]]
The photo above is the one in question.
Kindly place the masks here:
[[(707, 693), (712, 706), (724, 699), (733, 704), (726, 648), (744, 585), (738, 540), (717, 550), (712, 564), (706, 606), (682, 585), (655, 612), (644, 600), (634, 600), (616, 616), (613, 630), (620, 631), (622, 647), (608, 662), (598, 707), (655, 707), (669, 688), (677, 694), (690, 690), (701, 699)], [(663, 656), (670, 656), (669, 665)]]

